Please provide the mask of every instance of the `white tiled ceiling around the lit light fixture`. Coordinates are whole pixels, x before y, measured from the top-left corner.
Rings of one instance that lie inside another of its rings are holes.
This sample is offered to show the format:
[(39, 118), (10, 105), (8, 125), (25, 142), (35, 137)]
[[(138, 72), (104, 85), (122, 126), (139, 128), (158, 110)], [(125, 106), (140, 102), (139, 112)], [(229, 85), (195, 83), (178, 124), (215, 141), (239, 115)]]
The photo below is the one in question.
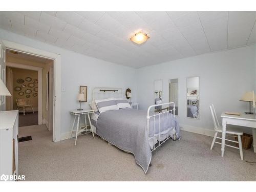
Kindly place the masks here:
[[(140, 68), (256, 42), (256, 11), (0, 11), (0, 28)], [(150, 39), (135, 45), (138, 31)]]

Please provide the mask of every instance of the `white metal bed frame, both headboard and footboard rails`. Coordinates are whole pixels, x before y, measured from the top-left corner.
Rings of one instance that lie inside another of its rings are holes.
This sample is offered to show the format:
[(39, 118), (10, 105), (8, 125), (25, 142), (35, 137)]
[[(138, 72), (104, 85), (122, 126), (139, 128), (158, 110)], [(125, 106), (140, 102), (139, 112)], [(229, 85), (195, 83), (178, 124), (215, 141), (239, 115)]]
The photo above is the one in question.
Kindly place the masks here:
[[(95, 87), (93, 89), (93, 100), (95, 100), (96, 94), (105, 94), (108, 91), (113, 91), (112, 97), (115, 97), (114, 90), (118, 90), (118, 91), (116, 91), (116, 95), (118, 95), (118, 97), (122, 97), (122, 93), (123, 93), (122, 88)], [(150, 112), (151, 112), (152, 108), (155, 109), (156, 106), (167, 106), (167, 107), (164, 108), (164, 109), (158, 110), (158, 113), (155, 112), (153, 115), (150, 115)], [(166, 130), (166, 129), (164, 129), (165, 113), (167, 113), (167, 117), (166, 117), (167, 121), (168, 121), (168, 118), (172, 118), (172, 116), (175, 118), (175, 103), (174, 102), (151, 105), (147, 109), (147, 116), (146, 116), (147, 126), (146, 126), (146, 128), (147, 128), (147, 137), (148, 137), (148, 139), (150, 139), (150, 135), (149, 135), (150, 134), (149, 130), (151, 128), (151, 127), (149, 127), (150, 126), (150, 119), (154, 118), (154, 133), (155, 133), (155, 120), (156, 120), (157, 117), (159, 118), (159, 132), (157, 134), (154, 134), (153, 142), (155, 142), (155, 138), (159, 138), (159, 141), (157, 141), (157, 143), (154, 144), (154, 148), (153, 148), (153, 150), (151, 150), (151, 152), (155, 151), (159, 146), (161, 146), (163, 143), (165, 143), (165, 141), (167, 141), (171, 137), (171, 134), (169, 134), (169, 132), (172, 131), (172, 128), (175, 130), (175, 127), (167, 127), (167, 129), (169, 129), (169, 131), (164, 133), (164, 139), (162, 141), (160, 141), (161, 140), (160, 139), (161, 134), (163, 132), (165, 132), (165, 130)], [(163, 130), (164, 130), (163, 132), (160, 132), (160, 116), (161, 115), (163, 115), (163, 123), (162, 123), (163, 124)], [(97, 133), (95, 133), (95, 134), (97, 134)], [(166, 134), (166, 137), (165, 137), (165, 134)], [(177, 136), (176, 132), (174, 134), (175, 134), (175, 137), (176, 137)]]

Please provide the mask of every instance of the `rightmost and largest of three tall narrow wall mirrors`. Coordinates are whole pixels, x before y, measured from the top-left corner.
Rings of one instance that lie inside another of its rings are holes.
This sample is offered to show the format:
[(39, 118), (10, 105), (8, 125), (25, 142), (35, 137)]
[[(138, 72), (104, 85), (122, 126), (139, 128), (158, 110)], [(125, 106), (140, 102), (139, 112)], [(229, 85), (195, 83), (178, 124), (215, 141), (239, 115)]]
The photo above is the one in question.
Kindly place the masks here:
[(199, 119), (199, 77), (187, 77), (187, 117)]

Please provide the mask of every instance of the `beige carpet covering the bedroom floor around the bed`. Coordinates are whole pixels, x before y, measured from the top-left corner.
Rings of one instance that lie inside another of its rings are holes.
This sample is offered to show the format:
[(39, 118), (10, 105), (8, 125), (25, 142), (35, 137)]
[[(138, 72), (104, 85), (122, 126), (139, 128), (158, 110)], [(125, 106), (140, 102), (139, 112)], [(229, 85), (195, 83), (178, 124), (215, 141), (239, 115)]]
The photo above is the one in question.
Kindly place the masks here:
[(182, 131), (180, 141), (169, 140), (152, 156), (145, 175), (132, 154), (124, 153), (92, 135), (53, 143), (44, 125), (19, 128), (19, 175), (27, 181), (256, 181), (256, 154), (220, 145), (209, 150), (212, 138)]

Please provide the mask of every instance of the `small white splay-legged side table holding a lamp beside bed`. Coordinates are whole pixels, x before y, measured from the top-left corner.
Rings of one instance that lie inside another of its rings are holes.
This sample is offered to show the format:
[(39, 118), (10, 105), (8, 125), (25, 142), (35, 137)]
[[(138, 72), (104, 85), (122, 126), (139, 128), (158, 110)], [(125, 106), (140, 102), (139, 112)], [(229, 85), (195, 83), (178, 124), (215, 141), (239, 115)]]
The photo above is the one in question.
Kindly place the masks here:
[[(70, 113), (72, 115), (74, 115), (74, 120), (73, 120), (73, 123), (72, 123), (72, 127), (71, 127), (71, 132), (70, 132), (70, 137), (69, 139), (71, 138), (72, 136), (72, 133), (74, 131), (74, 125), (75, 125), (75, 121), (76, 121), (76, 118), (77, 118), (77, 124), (76, 124), (76, 140), (77, 140), (77, 136), (82, 133), (82, 132), (92, 132), (93, 134), (93, 138), (94, 138), (94, 133), (93, 133), (93, 130), (92, 130), (92, 122), (91, 122), (91, 119), (90, 119), (90, 114), (91, 113), (94, 113), (93, 110), (75, 110), (75, 111), (70, 111)], [(84, 115), (84, 123), (85, 125), (84, 126), (80, 126), (80, 115)], [(88, 120), (89, 120), (89, 125), (87, 124), (87, 117), (88, 117)], [(90, 126), (90, 129), (88, 129), (88, 126)], [(75, 145), (76, 145), (76, 140), (75, 140)]]

